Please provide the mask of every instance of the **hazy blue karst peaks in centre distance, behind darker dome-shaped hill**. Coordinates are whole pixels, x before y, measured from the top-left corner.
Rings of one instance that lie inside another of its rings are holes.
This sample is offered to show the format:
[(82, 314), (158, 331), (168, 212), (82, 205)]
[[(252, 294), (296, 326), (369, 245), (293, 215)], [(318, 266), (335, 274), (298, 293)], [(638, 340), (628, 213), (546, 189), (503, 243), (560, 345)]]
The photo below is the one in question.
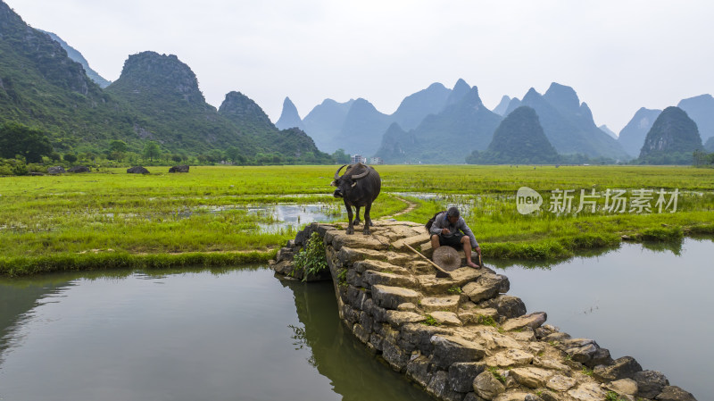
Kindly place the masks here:
[(290, 116), (289, 125), (302, 123), (327, 152), (342, 148), (386, 163), (461, 163), (472, 151), (486, 150), (502, 118), (521, 105), (535, 110), (545, 137), (561, 155), (613, 162), (638, 155), (627, 152), (607, 126), (595, 125), (593, 113), (573, 88), (555, 82), (544, 95), (531, 88), (522, 100), (503, 96), (494, 112), (484, 106), (476, 87), (459, 79), (452, 89), (434, 83), (405, 97), (391, 115), (378, 112), (365, 99), (342, 104), (326, 99), (298, 120), (295, 105), (286, 100), (279, 121)]

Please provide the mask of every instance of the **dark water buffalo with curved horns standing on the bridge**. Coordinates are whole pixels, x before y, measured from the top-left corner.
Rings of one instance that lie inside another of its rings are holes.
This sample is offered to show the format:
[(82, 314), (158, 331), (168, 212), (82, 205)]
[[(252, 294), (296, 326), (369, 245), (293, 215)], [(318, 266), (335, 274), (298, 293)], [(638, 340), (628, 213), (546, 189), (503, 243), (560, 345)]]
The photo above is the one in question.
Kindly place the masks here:
[[(354, 226), (360, 224), (360, 208), (364, 206), (364, 235), (369, 235), (369, 226), (372, 219), (369, 218), (369, 210), (372, 202), (377, 199), (379, 190), (382, 188), (382, 180), (379, 173), (372, 167), (362, 163), (351, 164), (345, 170), (345, 174), (340, 177), (340, 170), (347, 164), (335, 171), (335, 180), (332, 181), (335, 197), (341, 197), (347, 208), (347, 217), (350, 225), (347, 227), (347, 234), (354, 234)], [(356, 218), (352, 220), (352, 206), (356, 210)]]

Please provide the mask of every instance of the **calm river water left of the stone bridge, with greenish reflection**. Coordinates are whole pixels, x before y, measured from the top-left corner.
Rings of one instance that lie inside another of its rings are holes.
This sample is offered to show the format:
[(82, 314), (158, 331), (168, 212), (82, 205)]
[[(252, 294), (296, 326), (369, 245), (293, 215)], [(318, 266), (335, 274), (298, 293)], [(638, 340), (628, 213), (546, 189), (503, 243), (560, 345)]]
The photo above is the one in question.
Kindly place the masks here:
[(331, 284), (237, 269), (0, 281), (0, 399), (428, 400)]

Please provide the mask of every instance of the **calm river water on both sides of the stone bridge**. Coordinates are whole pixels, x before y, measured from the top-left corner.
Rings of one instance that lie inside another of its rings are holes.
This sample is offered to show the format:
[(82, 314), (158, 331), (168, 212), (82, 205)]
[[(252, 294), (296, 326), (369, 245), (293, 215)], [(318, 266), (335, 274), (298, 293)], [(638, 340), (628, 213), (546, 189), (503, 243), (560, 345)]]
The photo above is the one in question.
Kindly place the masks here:
[[(712, 241), (687, 238), (675, 249), (624, 244), (548, 268), (500, 267), (529, 312), (704, 400), (711, 255)], [(430, 398), (345, 330), (330, 283), (251, 266), (0, 280), (0, 399)]]

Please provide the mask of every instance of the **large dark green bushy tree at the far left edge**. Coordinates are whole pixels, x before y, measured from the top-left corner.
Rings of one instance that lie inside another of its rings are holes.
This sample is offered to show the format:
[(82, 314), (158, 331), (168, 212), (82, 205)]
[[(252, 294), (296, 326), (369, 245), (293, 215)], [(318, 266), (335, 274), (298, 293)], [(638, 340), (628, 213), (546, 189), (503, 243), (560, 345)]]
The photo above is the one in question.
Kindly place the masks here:
[(10, 122), (0, 127), (0, 156), (9, 159), (21, 155), (28, 163), (41, 163), (42, 156), (52, 154), (45, 132)]

